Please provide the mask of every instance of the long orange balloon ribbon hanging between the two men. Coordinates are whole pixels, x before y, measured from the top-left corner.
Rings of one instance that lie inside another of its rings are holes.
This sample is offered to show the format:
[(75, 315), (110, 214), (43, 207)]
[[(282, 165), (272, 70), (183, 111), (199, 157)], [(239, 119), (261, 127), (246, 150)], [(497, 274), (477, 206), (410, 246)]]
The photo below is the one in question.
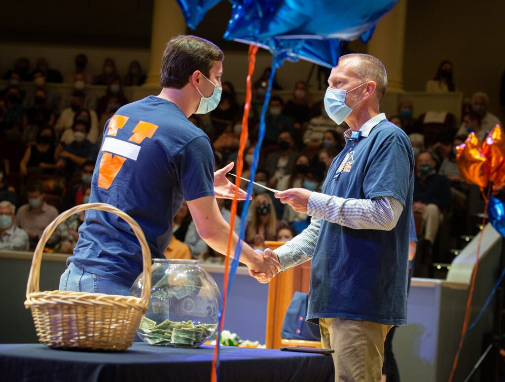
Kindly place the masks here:
[[(247, 73), (247, 79), (246, 79), (246, 90), (245, 90), (245, 103), (244, 103), (244, 114), (242, 117), (242, 131), (240, 133), (240, 144), (239, 144), (239, 149), (238, 149), (238, 155), (237, 155), (237, 161), (236, 161), (236, 174), (238, 176), (242, 175), (242, 170), (243, 170), (243, 153), (245, 150), (245, 145), (247, 142), (247, 137), (248, 137), (248, 120), (249, 120), (249, 111), (250, 111), (250, 106), (251, 106), (251, 99), (252, 99), (252, 91), (251, 91), (251, 78), (252, 74), (254, 73), (254, 68), (256, 65), (256, 53), (258, 52), (258, 46), (255, 45), (249, 45), (249, 69)], [(237, 177), (235, 179), (235, 194), (233, 196), (233, 201), (231, 203), (231, 209), (230, 209), (230, 234), (228, 236), (228, 246), (226, 249), (226, 258), (225, 258), (225, 269), (224, 269), (224, 285), (223, 285), (223, 303), (219, 309), (219, 314), (218, 314), (218, 333), (216, 335), (216, 346), (214, 348), (214, 356), (212, 359), (212, 372), (211, 372), (211, 381), (212, 382), (217, 382), (219, 378), (219, 367), (220, 367), (220, 344), (221, 344), (221, 331), (224, 326), (224, 312), (226, 309), (226, 300), (228, 296), (228, 289), (231, 287), (233, 283), (233, 278), (236, 272), (236, 267), (238, 265), (238, 258), (235, 257), (237, 260), (233, 261), (232, 268), (230, 269), (230, 277), (228, 277), (228, 267), (230, 264), (230, 253), (231, 253), (231, 246), (233, 243), (233, 227), (235, 226), (235, 216), (237, 214), (237, 204), (238, 204), (238, 188), (240, 187), (240, 178)], [(247, 198), (249, 198), (250, 193), (247, 193)], [(240, 256), (241, 250), (242, 250), (242, 243), (243, 243), (243, 234), (242, 232), (240, 233), (239, 236), (239, 241), (237, 245), (237, 249), (235, 251), (235, 254), (238, 252), (238, 256)], [(231, 278), (231, 282), (229, 282), (229, 278)], [(228, 285), (229, 282), (229, 285)]]

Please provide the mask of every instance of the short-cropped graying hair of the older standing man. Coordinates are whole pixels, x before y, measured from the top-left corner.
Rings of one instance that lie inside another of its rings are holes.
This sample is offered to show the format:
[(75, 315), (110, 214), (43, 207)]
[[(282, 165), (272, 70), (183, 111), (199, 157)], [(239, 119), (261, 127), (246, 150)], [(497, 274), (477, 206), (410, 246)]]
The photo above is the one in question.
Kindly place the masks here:
[(374, 81), (377, 84), (377, 101), (380, 101), (387, 89), (387, 74), (386, 68), (382, 65), (382, 62), (374, 56), (362, 54), (362, 53), (351, 53), (348, 55), (341, 56), (340, 61), (352, 60), (352, 71), (358, 79), (363, 82)]

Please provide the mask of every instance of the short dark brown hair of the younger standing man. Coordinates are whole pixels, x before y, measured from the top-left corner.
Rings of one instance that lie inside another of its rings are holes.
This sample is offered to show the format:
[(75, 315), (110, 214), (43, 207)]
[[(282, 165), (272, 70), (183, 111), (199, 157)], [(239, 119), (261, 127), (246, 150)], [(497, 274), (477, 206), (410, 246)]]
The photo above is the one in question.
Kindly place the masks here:
[(224, 54), (214, 43), (196, 36), (172, 38), (163, 52), (160, 84), (182, 89), (195, 70), (209, 77), (214, 61), (223, 61)]

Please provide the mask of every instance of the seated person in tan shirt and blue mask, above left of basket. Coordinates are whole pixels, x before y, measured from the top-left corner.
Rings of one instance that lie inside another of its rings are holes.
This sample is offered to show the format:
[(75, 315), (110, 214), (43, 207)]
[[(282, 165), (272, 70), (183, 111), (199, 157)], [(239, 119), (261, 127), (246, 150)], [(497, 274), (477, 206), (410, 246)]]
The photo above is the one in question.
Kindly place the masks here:
[[(42, 182), (35, 181), (26, 186), (28, 203), (19, 207), (15, 224), (23, 228), (30, 238), (30, 249), (35, 249), (40, 235), (45, 227), (57, 216), (58, 210), (44, 201), (44, 186)], [(47, 241), (48, 245), (51, 238)]]

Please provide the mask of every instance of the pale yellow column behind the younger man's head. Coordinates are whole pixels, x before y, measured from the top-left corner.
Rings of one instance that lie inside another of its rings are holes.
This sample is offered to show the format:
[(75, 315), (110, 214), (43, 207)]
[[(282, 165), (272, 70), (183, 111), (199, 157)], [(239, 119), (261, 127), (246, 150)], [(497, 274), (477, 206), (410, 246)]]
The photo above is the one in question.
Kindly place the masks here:
[(144, 86), (160, 86), (161, 59), (167, 42), (186, 34), (186, 21), (175, 0), (155, 0), (149, 71)]

